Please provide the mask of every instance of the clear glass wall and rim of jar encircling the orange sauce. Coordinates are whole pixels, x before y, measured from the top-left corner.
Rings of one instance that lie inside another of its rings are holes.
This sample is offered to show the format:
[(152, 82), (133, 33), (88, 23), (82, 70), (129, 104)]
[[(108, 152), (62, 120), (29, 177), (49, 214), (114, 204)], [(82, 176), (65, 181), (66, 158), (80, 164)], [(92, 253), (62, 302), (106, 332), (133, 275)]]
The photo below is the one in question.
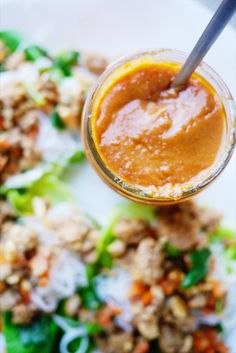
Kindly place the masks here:
[[(122, 58), (121, 60), (110, 65), (107, 70), (101, 75), (96, 82), (94, 88), (87, 97), (83, 115), (82, 115), (82, 139), (85, 148), (85, 153), (88, 160), (91, 162), (97, 174), (116, 192), (124, 197), (127, 197), (133, 201), (160, 205), (169, 204), (183, 201), (193, 195), (199, 193), (205, 187), (207, 187), (216, 177), (223, 171), (230, 157), (233, 153), (233, 149), (236, 142), (236, 109), (233, 102), (233, 98), (226, 87), (223, 80), (219, 75), (207, 64), (201, 63), (196, 72), (203, 77), (209, 84), (215, 89), (218, 95), (226, 115), (226, 138), (220, 158), (217, 162), (212, 165), (209, 173), (200, 179), (193, 182), (188, 187), (182, 188), (181, 192), (170, 190), (165, 194), (150, 195), (142, 187), (137, 187), (128, 184), (124, 180), (120, 179), (117, 175), (114, 175), (111, 170), (103, 162), (99, 151), (96, 148), (96, 144), (93, 138), (91, 117), (93, 107), (99, 102), (99, 97), (104, 94), (106, 89), (119, 78), (125, 72), (128, 72), (132, 68), (136, 67), (139, 63), (172, 63), (182, 66), (187, 58), (187, 54), (174, 51), (170, 49), (160, 49), (157, 51), (150, 51), (139, 53), (130, 57)], [(157, 188), (158, 189), (158, 188)]]

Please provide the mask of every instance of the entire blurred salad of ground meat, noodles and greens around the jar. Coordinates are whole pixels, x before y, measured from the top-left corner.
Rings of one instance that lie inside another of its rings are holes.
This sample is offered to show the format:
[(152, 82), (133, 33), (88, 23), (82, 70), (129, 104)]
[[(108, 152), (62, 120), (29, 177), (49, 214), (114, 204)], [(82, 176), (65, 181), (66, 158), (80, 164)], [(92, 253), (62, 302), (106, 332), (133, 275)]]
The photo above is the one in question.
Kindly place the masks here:
[(7, 31), (0, 62), (0, 352), (235, 353), (236, 233), (221, 217), (130, 202), (100, 225), (65, 182), (106, 59)]

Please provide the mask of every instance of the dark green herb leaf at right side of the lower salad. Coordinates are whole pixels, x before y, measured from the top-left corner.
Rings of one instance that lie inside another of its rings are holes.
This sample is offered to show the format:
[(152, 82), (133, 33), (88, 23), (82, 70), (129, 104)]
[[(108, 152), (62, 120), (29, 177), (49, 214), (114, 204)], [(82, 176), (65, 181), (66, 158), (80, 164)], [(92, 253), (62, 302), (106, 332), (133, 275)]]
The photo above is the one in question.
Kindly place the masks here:
[(190, 288), (200, 282), (208, 270), (208, 259), (211, 255), (209, 249), (194, 250), (190, 254), (191, 270), (185, 276), (182, 288)]

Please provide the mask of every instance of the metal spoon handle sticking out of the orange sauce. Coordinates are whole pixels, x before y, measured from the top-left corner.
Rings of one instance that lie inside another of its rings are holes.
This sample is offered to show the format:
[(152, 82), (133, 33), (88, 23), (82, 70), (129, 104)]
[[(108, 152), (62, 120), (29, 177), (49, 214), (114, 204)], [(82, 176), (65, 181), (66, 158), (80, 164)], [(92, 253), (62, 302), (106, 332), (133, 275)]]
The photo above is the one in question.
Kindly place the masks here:
[(205, 31), (202, 33), (180, 72), (176, 75), (171, 88), (184, 86), (189, 77), (202, 61), (208, 50), (219, 37), (236, 10), (236, 0), (223, 0)]

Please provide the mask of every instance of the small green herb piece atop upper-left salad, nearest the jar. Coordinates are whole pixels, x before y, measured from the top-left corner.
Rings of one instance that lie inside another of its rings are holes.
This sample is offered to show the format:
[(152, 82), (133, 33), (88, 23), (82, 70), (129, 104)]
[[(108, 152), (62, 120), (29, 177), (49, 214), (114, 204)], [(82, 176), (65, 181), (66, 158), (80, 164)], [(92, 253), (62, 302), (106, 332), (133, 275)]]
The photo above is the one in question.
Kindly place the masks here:
[(54, 68), (60, 70), (64, 76), (71, 76), (71, 68), (77, 64), (78, 51), (65, 51), (56, 56)]

